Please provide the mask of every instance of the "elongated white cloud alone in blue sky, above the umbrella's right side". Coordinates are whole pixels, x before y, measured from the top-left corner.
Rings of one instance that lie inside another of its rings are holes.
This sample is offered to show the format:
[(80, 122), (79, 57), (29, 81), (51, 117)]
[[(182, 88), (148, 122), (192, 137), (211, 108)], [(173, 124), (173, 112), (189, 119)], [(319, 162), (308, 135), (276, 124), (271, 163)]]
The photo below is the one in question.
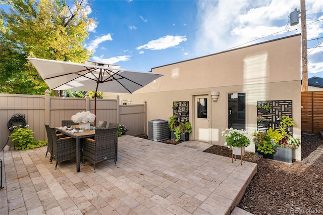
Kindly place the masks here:
[(141, 45), (136, 47), (136, 49), (151, 49), (151, 50), (160, 50), (160, 49), (166, 49), (169, 47), (174, 47), (178, 44), (180, 44), (182, 41), (186, 41), (187, 38), (185, 36), (171, 36), (167, 35), (165, 37), (160, 37), (156, 40), (151, 40), (145, 45)]

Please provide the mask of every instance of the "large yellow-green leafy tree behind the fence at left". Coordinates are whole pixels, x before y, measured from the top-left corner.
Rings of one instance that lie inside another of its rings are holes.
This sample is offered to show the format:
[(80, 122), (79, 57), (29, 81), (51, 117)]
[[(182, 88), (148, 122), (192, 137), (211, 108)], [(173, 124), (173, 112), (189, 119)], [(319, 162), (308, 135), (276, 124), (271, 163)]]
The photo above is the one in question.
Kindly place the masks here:
[[(0, 93), (44, 94), (48, 88), (28, 57), (84, 63), (92, 53), (84, 47), (87, 1), (0, 0)], [(63, 92), (55, 91), (56, 96)]]

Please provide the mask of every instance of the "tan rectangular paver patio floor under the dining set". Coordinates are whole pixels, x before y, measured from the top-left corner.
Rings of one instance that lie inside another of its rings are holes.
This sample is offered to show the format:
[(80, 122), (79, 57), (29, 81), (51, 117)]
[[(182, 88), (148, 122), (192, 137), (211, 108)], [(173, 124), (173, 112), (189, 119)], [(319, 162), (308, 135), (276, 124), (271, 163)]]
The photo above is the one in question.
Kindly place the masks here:
[(96, 173), (88, 162), (77, 173), (74, 160), (55, 170), (46, 147), (2, 151), (0, 214), (230, 214), (256, 164), (241, 166), (202, 152), (204, 147), (124, 135), (118, 139), (117, 166), (102, 162)]

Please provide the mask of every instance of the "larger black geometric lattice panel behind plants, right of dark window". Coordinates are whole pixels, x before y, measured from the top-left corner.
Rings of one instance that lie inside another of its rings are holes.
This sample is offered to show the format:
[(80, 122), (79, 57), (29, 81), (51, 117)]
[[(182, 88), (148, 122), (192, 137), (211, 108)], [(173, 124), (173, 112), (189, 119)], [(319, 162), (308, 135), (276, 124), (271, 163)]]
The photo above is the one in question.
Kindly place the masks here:
[[(271, 122), (268, 126), (262, 126), (257, 123), (257, 129), (261, 132), (267, 132), (269, 128), (274, 130), (280, 130), (279, 118), (282, 115), (293, 117), (293, 101), (292, 100), (264, 100), (257, 101), (257, 105), (271, 105), (272, 109), (267, 113), (262, 113), (260, 109), (257, 109), (257, 116), (262, 116), (265, 119), (270, 119)], [(289, 127), (289, 132), (293, 134), (293, 128)]]

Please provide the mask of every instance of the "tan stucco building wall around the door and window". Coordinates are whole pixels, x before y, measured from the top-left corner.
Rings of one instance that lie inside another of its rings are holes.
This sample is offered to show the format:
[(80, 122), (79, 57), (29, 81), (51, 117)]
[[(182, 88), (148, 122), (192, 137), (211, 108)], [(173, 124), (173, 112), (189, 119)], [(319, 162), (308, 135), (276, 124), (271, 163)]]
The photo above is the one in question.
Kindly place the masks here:
[[(132, 103), (147, 101), (147, 121), (168, 120), (173, 115), (173, 101), (189, 101), (189, 120), (194, 129), (194, 96), (207, 95), (209, 100), (210, 144), (223, 145), (221, 131), (228, 127), (228, 93), (246, 93), (246, 131), (257, 128), (258, 100), (292, 100), (296, 127), (293, 136), (301, 138), (300, 35), (272, 40), (189, 61), (153, 68), (163, 74), (133, 94), (119, 94), (120, 100)], [(219, 91), (218, 101), (211, 92)], [(103, 93), (104, 98), (113, 98)], [(194, 132), (190, 134), (194, 140)], [(255, 151), (255, 145), (247, 147)], [(294, 152), (301, 159), (301, 148)]]

